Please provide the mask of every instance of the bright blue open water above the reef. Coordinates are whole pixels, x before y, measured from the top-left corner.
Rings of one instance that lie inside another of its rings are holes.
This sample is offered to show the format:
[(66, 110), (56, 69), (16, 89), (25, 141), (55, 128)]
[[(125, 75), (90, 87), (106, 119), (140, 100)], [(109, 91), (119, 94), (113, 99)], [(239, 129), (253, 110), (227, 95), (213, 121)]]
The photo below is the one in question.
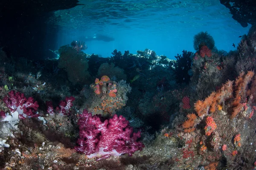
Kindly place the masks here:
[[(85, 41), (87, 54), (110, 57), (114, 49), (149, 48), (169, 59), (182, 50), (195, 52), (193, 36), (208, 31), (218, 49), (235, 50), (249, 27), (243, 28), (232, 19), (229, 10), (219, 0), (80, 0), (82, 6), (55, 11), (59, 27), (56, 46), (73, 40)], [(88, 41), (85, 37), (105, 35), (113, 41)]]

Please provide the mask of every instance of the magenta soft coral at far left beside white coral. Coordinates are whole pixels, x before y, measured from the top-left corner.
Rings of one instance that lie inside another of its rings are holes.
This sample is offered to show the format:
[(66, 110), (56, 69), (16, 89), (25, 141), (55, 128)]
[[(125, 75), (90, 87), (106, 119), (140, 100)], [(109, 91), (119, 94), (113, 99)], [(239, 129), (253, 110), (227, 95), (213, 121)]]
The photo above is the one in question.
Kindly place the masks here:
[(19, 119), (25, 119), (27, 116), (38, 117), (36, 113), (39, 105), (32, 97), (26, 98), (23, 93), (9, 91), (8, 95), (3, 98), (3, 102), (11, 112), (17, 111)]

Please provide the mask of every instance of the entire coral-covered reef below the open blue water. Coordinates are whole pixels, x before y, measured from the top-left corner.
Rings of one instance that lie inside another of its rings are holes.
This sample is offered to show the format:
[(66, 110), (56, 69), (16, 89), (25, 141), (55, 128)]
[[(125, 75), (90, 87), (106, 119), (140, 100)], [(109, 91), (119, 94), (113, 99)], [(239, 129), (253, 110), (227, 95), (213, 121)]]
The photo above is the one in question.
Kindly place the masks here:
[(255, 169), (255, 35), (227, 53), (201, 32), (177, 60), (83, 42), (44, 61), (0, 50), (0, 169)]

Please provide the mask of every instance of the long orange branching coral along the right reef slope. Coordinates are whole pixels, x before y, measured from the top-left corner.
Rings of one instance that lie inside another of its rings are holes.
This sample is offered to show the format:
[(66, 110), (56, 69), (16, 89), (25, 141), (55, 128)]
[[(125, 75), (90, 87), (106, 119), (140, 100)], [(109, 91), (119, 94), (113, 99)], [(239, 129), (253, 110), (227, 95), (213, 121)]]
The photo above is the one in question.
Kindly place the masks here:
[[(233, 92), (235, 93), (234, 99), (232, 100), (233, 112), (231, 113), (231, 118), (235, 118), (236, 115), (243, 108), (243, 103), (248, 101), (248, 98), (256, 98), (256, 77), (253, 71), (248, 71), (247, 74), (242, 72), (239, 77), (236, 78), (235, 85), (233, 88), (233, 81), (227, 81), (222, 85), (221, 89), (217, 92), (212, 92), (204, 101), (198, 100), (195, 103), (195, 111), (199, 117), (204, 117), (207, 113), (214, 113), (216, 108), (222, 110), (223, 104), (227, 99), (233, 97)], [(253, 81), (253, 82), (252, 82)], [(252, 82), (249, 88), (249, 84)], [(222, 104), (222, 105), (220, 105)]]

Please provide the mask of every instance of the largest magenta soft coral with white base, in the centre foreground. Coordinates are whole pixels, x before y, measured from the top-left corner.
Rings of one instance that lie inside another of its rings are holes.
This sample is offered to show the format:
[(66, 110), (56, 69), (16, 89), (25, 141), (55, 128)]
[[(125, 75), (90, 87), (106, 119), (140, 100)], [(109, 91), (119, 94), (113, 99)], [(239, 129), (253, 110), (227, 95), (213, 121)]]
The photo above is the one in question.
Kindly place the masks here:
[(75, 149), (97, 160), (124, 153), (132, 156), (135, 151), (142, 150), (144, 144), (137, 142), (141, 132), (133, 133), (128, 124), (123, 116), (114, 115), (112, 119), (102, 122), (99, 116), (92, 116), (84, 110), (78, 121), (79, 146)]

